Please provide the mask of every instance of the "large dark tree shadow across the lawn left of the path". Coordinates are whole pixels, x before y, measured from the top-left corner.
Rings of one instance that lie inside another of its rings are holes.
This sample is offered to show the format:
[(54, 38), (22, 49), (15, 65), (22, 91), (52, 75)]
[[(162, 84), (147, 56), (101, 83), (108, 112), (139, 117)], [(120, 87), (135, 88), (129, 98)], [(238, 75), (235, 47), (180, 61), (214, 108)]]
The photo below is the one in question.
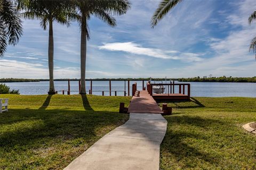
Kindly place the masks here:
[(10, 114), (15, 120), (16, 114), (19, 114), (22, 120), (6, 124), (6, 129), (0, 131), (0, 148), (11, 149), (16, 145), (29, 148), (40, 143), (42, 145), (44, 140), (55, 140), (59, 137), (63, 138), (63, 142), (77, 138), (94, 140), (105, 134), (105, 130), (101, 134), (101, 129), (109, 129), (126, 121), (122, 114), (93, 110), (48, 109), (46, 112), (37, 109), (11, 109)]

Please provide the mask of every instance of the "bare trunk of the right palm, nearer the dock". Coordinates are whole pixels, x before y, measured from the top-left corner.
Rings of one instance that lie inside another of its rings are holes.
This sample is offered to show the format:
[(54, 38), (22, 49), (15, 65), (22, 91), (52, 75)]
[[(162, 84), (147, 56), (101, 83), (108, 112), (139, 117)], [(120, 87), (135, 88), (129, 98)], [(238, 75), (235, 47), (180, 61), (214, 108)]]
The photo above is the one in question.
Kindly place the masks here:
[(80, 94), (86, 94), (85, 89), (85, 67), (86, 67), (86, 23), (82, 23), (81, 28), (81, 91)]

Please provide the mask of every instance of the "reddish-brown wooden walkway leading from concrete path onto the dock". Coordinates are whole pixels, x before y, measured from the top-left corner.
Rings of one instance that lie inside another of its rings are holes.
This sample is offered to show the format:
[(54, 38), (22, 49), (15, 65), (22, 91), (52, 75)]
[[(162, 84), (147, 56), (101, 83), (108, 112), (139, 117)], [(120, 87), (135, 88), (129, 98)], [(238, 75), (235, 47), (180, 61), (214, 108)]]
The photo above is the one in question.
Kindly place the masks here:
[(128, 113), (159, 113), (163, 111), (157, 105), (152, 96), (148, 94), (148, 91), (142, 90), (139, 96), (133, 96), (131, 103), (128, 107)]

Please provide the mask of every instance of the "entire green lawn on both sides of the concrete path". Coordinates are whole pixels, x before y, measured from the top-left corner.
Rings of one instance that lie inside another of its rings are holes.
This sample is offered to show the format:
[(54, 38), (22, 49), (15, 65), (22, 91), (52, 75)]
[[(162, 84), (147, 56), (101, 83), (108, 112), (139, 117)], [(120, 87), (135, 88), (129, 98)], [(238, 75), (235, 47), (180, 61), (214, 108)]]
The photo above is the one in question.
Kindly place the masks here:
[[(0, 95), (0, 169), (62, 169), (123, 124), (130, 97)], [(256, 98), (191, 98), (168, 103), (173, 115), (161, 145), (161, 169), (256, 169)]]

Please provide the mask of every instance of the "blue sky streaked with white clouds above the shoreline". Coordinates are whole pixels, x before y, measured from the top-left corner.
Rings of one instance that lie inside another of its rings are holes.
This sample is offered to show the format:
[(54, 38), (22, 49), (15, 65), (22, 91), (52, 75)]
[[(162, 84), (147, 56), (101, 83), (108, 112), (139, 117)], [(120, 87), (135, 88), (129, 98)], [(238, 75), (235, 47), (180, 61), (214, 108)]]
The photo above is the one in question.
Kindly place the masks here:
[[(154, 28), (150, 18), (159, 1), (133, 0), (125, 15), (109, 27), (89, 22), (86, 78), (197, 77), (212, 74), (253, 77), (249, 53), (256, 22), (247, 19), (256, 1), (184, 0)], [(1, 78), (48, 78), (48, 31), (24, 20), (23, 36), (0, 59)], [(79, 78), (80, 30), (54, 23), (54, 78)]]

